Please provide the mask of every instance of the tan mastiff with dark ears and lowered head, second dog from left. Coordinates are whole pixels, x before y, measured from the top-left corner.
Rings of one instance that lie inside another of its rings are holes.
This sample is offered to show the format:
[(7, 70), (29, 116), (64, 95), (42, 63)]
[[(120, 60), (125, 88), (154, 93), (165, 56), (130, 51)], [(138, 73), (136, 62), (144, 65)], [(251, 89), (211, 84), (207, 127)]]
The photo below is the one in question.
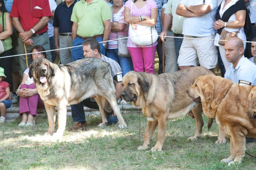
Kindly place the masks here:
[[(142, 107), (142, 111), (148, 119), (144, 135), (143, 146), (138, 150), (146, 150), (158, 125), (157, 143), (151, 151), (162, 150), (166, 136), (166, 125), (169, 119), (185, 116), (191, 109), (195, 116), (195, 135), (189, 139), (198, 139), (204, 125), (202, 119), (202, 105), (194, 102), (186, 94), (195, 79), (199, 76), (213, 74), (203, 67), (191, 67), (173, 74), (148, 74), (130, 71), (122, 79), (122, 97), (131, 101), (136, 107)], [(212, 125), (212, 119), (208, 127)]]

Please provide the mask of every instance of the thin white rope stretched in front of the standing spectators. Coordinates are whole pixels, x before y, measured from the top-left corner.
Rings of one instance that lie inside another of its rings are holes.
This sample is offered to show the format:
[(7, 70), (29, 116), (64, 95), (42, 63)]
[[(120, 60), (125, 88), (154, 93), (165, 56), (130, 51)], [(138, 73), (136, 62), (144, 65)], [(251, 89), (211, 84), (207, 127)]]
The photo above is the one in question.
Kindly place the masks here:
[[(196, 39), (196, 40), (208, 40), (208, 41), (227, 41), (227, 40), (213, 40), (213, 39), (198, 39), (198, 38), (195, 38), (195, 37), (160, 36), (160, 35), (153, 35), (153, 34), (150, 34), (150, 33), (148, 33), (148, 34), (151, 35), (151, 36), (166, 37), (166, 38), (182, 38), (182, 39)], [(148, 34), (141, 34), (141, 35), (148, 35)], [(131, 37), (138, 37), (138, 36), (141, 36), (141, 35), (136, 35), (136, 36), (131, 36)], [(102, 42), (99, 42), (99, 43), (110, 42), (110, 41), (116, 41), (116, 40), (131, 38), (131, 37), (118, 38), (118, 39), (114, 39), (114, 40), (102, 41)], [(243, 41), (243, 42), (250, 42), (250, 43), (252, 43), (253, 41)], [(76, 47), (81, 47), (81, 46), (83, 46), (83, 45), (77, 45), (77, 46), (67, 47), (67, 48), (58, 48), (58, 49), (54, 49), (54, 50), (40, 51), (40, 52), (34, 52), (34, 53), (26, 53), (26, 54), (27, 54), (27, 55), (30, 55), (30, 54), (37, 54), (37, 53), (43, 53), (43, 52), (48, 52), (48, 51), (56, 51), (56, 50), (64, 50), (64, 49), (69, 49), (69, 48), (76, 48)], [(1, 58), (23, 56), (23, 55), (26, 55), (26, 54), (17, 54), (17, 55), (6, 56), (6, 57), (1, 57)]]

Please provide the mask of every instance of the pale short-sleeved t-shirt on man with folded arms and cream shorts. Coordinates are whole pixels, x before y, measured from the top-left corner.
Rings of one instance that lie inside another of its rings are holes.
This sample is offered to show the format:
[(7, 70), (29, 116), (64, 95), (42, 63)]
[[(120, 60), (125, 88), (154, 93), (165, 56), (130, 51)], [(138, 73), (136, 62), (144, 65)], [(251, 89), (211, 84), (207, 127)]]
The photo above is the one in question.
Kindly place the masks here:
[(183, 22), (182, 34), (195, 36), (195, 37), (206, 37), (215, 34), (214, 21), (215, 14), (218, 8), (218, 0), (181, 0), (185, 6), (197, 6), (197, 5), (210, 5), (212, 11), (202, 17), (189, 17), (185, 18)]

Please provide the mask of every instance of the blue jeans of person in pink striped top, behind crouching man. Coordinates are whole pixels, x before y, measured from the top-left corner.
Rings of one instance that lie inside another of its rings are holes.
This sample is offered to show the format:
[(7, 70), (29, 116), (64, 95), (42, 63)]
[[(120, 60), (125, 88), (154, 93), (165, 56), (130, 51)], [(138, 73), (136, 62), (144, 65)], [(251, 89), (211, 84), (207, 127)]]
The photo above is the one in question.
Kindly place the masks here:
[(122, 57), (118, 55), (118, 48), (106, 49), (106, 56), (119, 63), (122, 69), (122, 76), (124, 76), (129, 71), (133, 70), (131, 57)]

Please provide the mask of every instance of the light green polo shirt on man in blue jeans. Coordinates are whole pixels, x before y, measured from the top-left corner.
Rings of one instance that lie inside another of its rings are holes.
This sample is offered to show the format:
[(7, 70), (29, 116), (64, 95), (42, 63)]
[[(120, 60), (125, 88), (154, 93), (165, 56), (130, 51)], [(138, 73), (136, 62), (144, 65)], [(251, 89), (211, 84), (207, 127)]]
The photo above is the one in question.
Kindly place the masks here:
[(80, 0), (75, 4), (71, 15), (71, 21), (78, 23), (77, 35), (81, 37), (103, 34), (103, 21), (111, 18), (111, 8), (104, 0), (93, 0), (89, 5), (85, 0)]

